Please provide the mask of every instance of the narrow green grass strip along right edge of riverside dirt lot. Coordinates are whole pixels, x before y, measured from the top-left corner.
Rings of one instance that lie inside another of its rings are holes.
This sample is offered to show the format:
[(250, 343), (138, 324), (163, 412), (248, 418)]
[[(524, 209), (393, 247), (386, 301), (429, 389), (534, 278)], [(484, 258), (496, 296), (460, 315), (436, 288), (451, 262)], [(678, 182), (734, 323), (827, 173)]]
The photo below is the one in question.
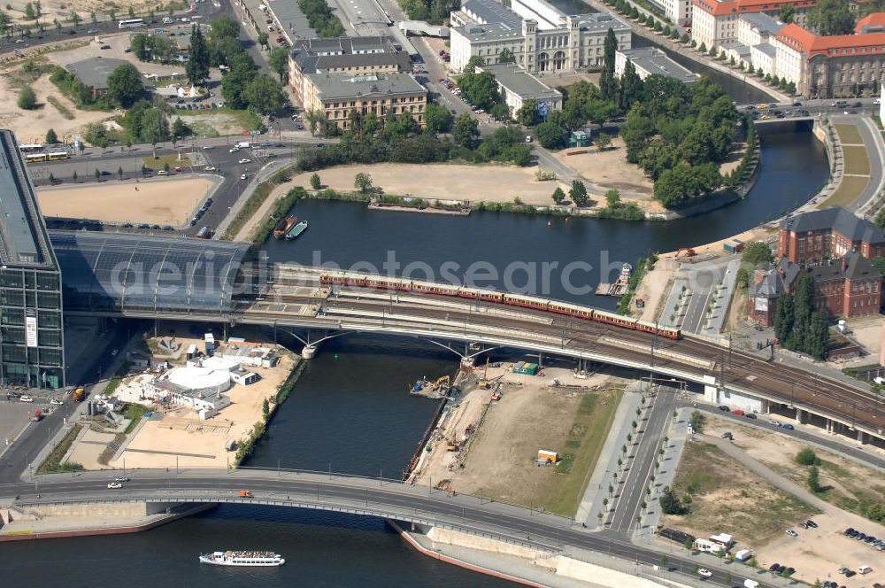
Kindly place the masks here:
[(567, 453), (557, 465), (558, 476), (553, 477), (541, 500), (551, 513), (573, 516), (577, 512), (622, 395), (622, 390), (612, 390), (581, 398), (568, 433)]

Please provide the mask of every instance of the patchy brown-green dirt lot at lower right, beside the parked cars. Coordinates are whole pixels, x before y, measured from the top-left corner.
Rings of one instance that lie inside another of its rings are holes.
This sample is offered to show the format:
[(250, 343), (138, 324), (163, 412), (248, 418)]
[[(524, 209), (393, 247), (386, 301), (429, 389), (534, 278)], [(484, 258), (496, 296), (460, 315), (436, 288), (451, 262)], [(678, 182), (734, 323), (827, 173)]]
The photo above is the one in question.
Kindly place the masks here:
[[(817, 514), (703, 441), (685, 448), (673, 488), (679, 496), (690, 491), (693, 498), (689, 514), (666, 515), (666, 526), (702, 538), (729, 533), (737, 541), (735, 549), (759, 552), (797, 521)], [(789, 565), (799, 569), (795, 562)]]

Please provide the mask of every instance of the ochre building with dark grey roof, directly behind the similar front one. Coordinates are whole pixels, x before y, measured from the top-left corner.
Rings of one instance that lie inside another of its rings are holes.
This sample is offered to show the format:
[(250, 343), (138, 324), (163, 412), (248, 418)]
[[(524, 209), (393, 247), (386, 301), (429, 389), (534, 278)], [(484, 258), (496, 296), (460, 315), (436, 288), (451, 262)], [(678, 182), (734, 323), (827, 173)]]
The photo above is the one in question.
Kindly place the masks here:
[(396, 74), (412, 71), (409, 54), (391, 37), (304, 39), (289, 52), (289, 85), (304, 104), (307, 74)]

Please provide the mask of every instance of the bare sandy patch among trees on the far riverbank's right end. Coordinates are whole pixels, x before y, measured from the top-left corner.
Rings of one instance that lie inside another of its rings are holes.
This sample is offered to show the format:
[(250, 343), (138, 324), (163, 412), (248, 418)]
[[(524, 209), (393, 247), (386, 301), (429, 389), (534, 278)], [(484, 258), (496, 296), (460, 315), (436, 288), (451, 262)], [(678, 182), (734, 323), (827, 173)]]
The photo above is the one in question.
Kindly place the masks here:
[[(586, 151), (579, 155), (568, 155), (574, 151)], [(612, 138), (612, 146), (598, 151), (595, 145), (577, 149), (564, 149), (555, 154), (566, 166), (581, 174), (588, 182), (603, 188), (620, 190), (621, 197), (653, 196), (654, 182), (643, 173), (640, 166), (627, 163), (627, 150), (620, 137)]]

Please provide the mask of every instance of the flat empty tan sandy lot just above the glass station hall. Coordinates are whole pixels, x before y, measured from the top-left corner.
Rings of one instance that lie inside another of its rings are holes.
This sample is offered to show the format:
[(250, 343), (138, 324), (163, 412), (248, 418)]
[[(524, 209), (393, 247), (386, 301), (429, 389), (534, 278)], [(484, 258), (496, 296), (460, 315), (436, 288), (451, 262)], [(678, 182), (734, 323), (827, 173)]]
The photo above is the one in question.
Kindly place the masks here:
[(112, 180), (75, 188), (41, 188), (37, 200), (47, 216), (181, 226), (211, 188), (212, 182), (201, 177), (138, 183)]

